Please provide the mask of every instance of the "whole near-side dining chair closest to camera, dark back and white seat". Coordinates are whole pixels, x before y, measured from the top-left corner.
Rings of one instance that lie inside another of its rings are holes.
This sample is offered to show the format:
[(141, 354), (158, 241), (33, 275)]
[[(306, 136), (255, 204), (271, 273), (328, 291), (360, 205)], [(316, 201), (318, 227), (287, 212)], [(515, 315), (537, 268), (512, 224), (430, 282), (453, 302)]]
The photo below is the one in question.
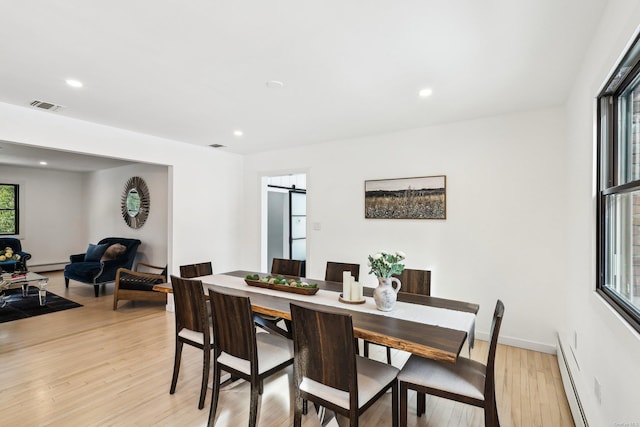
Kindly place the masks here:
[(350, 314), (291, 304), (293, 326), (293, 425), (302, 425), (310, 400), (349, 417), (352, 427), (391, 388), (393, 426), (398, 425), (398, 368), (357, 356)]

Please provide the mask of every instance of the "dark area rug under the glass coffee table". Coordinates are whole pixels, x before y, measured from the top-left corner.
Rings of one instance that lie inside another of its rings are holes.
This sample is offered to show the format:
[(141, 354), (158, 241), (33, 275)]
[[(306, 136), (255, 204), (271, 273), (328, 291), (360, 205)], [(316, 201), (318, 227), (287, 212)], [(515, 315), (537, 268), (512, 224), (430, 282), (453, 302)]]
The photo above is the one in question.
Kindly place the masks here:
[[(2, 292), (0, 292), (1, 294)], [(4, 305), (5, 302), (6, 305)], [(82, 304), (62, 298), (49, 291), (47, 291), (46, 304), (40, 306), (38, 290), (35, 288), (29, 288), (29, 294), (26, 297), (22, 296), (21, 288), (4, 291), (4, 295), (0, 296), (0, 307), (3, 305), (4, 307), (0, 308), (0, 323), (82, 307)]]

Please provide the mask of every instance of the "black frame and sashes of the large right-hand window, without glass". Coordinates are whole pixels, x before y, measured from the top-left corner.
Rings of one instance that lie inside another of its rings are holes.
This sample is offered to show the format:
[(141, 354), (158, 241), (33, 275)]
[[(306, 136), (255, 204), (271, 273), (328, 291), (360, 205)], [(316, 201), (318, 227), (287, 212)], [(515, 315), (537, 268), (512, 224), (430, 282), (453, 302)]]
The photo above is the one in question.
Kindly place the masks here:
[[(640, 178), (619, 183), (622, 144), (619, 135), (619, 99), (640, 76), (640, 35), (636, 36), (596, 99), (596, 292), (640, 332), (640, 307), (606, 286), (608, 253), (606, 201), (608, 196), (640, 191)], [(637, 86), (640, 87), (640, 86)], [(604, 128), (606, 126), (606, 129)], [(606, 182), (606, 184), (603, 184)]]

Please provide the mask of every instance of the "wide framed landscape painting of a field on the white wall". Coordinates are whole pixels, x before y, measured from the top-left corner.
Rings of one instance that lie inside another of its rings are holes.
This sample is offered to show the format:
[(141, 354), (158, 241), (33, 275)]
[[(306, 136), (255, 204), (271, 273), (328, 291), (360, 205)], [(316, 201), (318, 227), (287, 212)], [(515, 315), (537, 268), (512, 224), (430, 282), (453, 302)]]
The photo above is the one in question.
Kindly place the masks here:
[(446, 219), (446, 177), (377, 179), (364, 183), (364, 217)]

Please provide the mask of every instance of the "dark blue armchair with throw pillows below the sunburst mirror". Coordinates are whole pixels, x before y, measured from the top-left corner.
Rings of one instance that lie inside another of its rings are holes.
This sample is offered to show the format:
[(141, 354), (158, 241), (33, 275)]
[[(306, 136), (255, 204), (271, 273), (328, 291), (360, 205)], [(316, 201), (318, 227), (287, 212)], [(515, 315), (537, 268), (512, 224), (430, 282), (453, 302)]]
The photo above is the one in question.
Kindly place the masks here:
[[(71, 264), (64, 268), (64, 284), (68, 288), (69, 280), (93, 285), (96, 297), (99, 294), (100, 285), (116, 280), (116, 272), (119, 268), (131, 269), (142, 243), (138, 239), (124, 239), (120, 237), (107, 237), (90, 245), (87, 253), (71, 255)], [(123, 245), (122, 253), (116, 244)], [(87, 256), (89, 255), (89, 256)]]

